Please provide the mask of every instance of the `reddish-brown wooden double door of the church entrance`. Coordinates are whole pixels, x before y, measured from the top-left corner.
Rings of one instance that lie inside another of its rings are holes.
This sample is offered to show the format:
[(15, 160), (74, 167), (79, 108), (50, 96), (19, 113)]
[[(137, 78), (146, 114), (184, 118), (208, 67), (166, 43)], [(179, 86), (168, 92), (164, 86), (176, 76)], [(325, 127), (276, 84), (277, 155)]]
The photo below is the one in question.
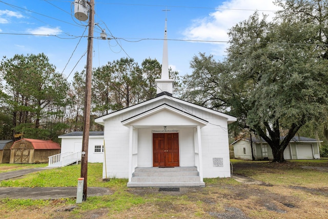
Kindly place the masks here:
[(153, 166), (179, 165), (179, 133), (153, 133)]

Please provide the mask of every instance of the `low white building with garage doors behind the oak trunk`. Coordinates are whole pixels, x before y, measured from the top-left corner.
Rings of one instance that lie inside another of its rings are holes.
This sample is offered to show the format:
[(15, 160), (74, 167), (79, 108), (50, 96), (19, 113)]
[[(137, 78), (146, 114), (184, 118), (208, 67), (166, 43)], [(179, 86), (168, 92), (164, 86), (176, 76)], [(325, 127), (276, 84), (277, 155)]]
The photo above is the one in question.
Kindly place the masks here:
[[(319, 142), (314, 138), (294, 136), (290, 144), (285, 148), (283, 157), (285, 160), (320, 159)], [(261, 137), (240, 138), (232, 143), (234, 155), (237, 159), (273, 160), (272, 149)]]

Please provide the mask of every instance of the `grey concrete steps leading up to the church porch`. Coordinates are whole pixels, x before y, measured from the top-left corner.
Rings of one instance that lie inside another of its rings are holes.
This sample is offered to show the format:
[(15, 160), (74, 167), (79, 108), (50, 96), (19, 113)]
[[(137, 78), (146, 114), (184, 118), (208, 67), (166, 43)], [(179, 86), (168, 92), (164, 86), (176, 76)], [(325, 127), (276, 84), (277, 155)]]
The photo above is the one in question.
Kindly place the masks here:
[(136, 168), (128, 187), (196, 187), (200, 181), (196, 167)]

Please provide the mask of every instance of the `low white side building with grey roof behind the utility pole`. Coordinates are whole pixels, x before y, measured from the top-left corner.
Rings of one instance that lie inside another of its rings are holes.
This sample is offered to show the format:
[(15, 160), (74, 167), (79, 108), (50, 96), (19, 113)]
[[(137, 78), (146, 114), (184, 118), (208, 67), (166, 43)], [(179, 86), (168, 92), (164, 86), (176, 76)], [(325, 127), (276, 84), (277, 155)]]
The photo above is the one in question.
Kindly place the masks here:
[[(75, 131), (67, 134), (59, 135), (61, 138), (61, 151), (66, 152), (80, 152), (82, 150), (83, 132)], [(103, 163), (104, 161), (104, 132), (91, 131), (89, 134), (88, 145), (88, 162), (89, 163)]]

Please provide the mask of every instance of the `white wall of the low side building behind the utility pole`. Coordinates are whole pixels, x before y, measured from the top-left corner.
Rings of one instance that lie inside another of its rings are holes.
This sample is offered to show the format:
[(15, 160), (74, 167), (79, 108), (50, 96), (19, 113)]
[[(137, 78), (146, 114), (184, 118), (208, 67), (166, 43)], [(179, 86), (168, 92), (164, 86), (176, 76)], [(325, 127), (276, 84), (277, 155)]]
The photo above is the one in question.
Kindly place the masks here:
[[(102, 163), (104, 161), (103, 152), (94, 152), (95, 145), (104, 145), (103, 136), (89, 136), (88, 144), (88, 162), (89, 163)], [(65, 152), (78, 152), (82, 150), (82, 136), (63, 137), (61, 138), (60, 153)]]

